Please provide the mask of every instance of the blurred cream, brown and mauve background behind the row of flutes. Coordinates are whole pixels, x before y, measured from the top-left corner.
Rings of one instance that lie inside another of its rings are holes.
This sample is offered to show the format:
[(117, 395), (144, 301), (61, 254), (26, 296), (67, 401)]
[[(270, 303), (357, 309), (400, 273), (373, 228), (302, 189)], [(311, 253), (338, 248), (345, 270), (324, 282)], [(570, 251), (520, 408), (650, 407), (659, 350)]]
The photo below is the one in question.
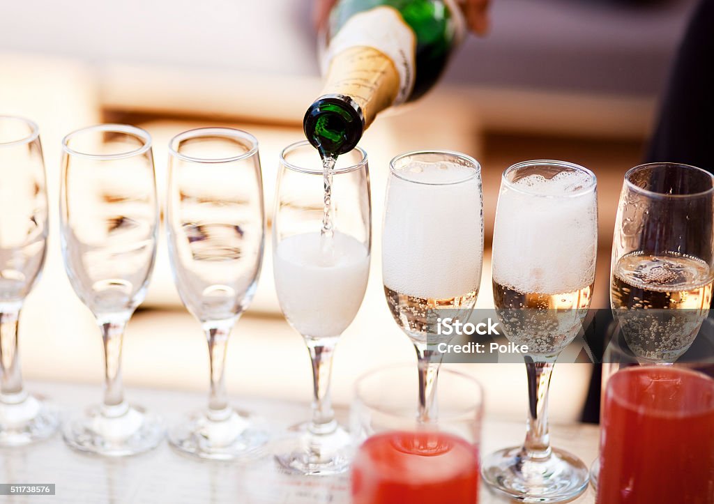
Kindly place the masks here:
[[(39, 124), (53, 211), (44, 277), (21, 321), (28, 380), (99, 385), (103, 376), (99, 331), (61, 263), (56, 209), (62, 136), (103, 121), (146, 128), (163, 193), (171, 136), (200, 126), (246, 129), (260, 141), (269, 216), (278, 154), (303, 138), (303, 114), (321, 90), (311, 7), (311, 0), (4, 1), (0, 114)], [(336, 403), (348, 403), (353, 380), (364, 371), (416, 363), (381, 284), (383, 198), (388, 161), (398, 153), (454, 149), (481, 162), (481, 307), (491, 306), (491, 234), (502, 171), (532, 158), (593, 170), (600, 198), (593, 307), (608, 306), (623, 174), (640, 162), (692, 7), (692, 0), (493, 0), (491, 34), (470, 36), (425, 99), (376, 121), (361, 143), (373, 183), (371, 281), (336, 351)], [(491, 416), (523, 416), (522, 364), (461, 366), (486, 386)], [(556, 368), (550, 399), (555, 421), (580, 418), (591, 372), (585, 364)], [(269, 243), (258, 294), (233, 333), (226, 373), (236, 398), (300, 400), (307, 414), (308, 353), (278, 308)], [(208, 387), (206, 343), (178, 300), (163, 242), (149, 296), (129, 324), (124, 377), (129, 388)]]

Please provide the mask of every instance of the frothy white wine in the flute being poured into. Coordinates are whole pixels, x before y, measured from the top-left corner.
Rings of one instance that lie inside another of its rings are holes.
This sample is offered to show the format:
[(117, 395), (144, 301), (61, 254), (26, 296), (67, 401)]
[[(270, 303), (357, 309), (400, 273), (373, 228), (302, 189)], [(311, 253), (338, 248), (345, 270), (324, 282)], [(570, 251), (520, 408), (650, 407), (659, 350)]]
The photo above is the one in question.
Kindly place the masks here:
[(283, 238), (273, 253), (280, 306), (306, 338), (340, 336), (362, 303), (369, 273), (363, 243), (335, 231), (323, 252), (319, 231)]

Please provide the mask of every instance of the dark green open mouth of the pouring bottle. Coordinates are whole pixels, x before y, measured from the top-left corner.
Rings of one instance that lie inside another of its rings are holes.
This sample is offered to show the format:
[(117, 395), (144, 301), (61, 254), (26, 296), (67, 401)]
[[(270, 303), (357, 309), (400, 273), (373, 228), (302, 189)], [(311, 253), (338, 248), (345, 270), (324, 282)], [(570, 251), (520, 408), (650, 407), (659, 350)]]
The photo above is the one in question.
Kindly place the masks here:
[(303, 130), (322, 156), (335, 157), (356, 147), (365, 130), (365, 120), (362, 110), (349, 96), (326, 94), (306, 111)]

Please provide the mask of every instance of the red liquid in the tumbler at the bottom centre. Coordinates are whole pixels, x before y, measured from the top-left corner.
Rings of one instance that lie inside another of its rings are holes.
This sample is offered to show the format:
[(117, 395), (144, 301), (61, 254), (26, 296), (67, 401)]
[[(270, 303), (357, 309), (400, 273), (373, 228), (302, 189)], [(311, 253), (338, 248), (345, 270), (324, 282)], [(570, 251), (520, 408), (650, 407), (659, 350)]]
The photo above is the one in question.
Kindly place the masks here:
[(360, 447), (353, 504), (476, 504), (478, 450), (446, 433), (391, 432)]

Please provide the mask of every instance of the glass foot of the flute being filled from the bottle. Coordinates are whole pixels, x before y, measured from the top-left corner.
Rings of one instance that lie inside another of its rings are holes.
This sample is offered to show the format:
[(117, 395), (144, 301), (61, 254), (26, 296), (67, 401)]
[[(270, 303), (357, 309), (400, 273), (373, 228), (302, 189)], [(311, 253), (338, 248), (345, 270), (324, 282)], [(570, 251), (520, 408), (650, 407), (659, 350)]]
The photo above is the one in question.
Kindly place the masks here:
[(352, 440), (335, 423), (326, 433), (311, 433), (309, 423), (290, 428), (288, 438), (278, 443), (275, 458), (291, 473), (332, 475), (349, 469), (353, 458)]

